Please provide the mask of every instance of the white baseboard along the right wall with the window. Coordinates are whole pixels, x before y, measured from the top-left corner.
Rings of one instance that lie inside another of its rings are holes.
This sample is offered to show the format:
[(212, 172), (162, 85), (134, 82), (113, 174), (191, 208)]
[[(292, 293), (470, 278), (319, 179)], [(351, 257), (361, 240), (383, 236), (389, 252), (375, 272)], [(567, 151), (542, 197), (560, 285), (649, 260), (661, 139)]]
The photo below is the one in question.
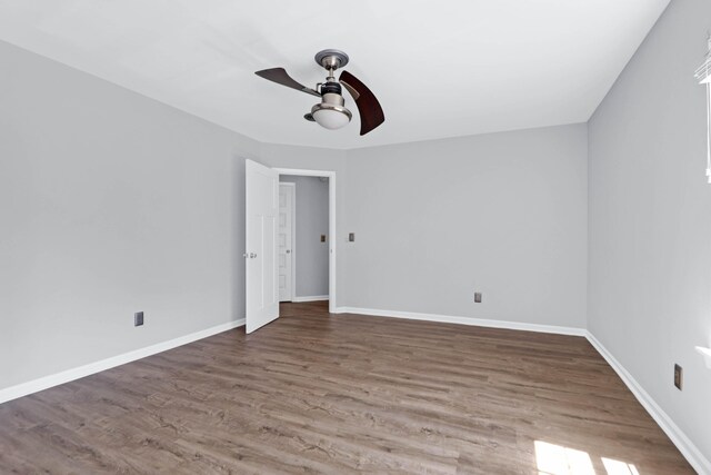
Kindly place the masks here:
[(652, 399), (644, 388), (632, 377), (632, 375), (615, 359), (614, 356), (594, 337), (587, 331), (588, 342), (602, 355), (608, 364), (615, 370), (618, 376), (632, 392), (637, 400), (647, 409), (650, 416), (664, 431), (671, 442), (679, 448), (679, 452), (687, 458), (694, 471), (700, 474), (711, 475), (711, 461), (709, 461), (689, 437), (679, 428), (664, 410)]

